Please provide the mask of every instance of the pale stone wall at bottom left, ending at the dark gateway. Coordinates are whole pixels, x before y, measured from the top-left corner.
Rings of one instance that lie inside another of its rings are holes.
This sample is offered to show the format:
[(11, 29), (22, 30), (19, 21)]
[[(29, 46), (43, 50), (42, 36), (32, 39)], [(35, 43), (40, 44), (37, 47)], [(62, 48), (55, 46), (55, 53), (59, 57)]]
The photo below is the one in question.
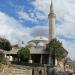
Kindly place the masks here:
[(32, 69), (29, 67), (13, 66), (0, 69), (0, 75), (32, 75)]

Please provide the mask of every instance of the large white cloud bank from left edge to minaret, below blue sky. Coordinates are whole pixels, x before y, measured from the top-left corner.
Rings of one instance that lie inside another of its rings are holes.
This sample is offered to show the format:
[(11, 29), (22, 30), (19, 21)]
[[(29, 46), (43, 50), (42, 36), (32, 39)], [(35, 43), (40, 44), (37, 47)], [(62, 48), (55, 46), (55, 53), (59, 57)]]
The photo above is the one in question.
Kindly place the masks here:
[[(39, 30), (39, 32), (38, 32)], [(30, 39), (42, 35), (43, 31), (48, 31), (46, 26), (36, 26), (32, 28), (24, 27), (13, 17), (0, 11), (0, 35), (5, 36), (12, 44), (25, 41), (27, 43)], [(43, 36), (47, 35), (46, 33)]]

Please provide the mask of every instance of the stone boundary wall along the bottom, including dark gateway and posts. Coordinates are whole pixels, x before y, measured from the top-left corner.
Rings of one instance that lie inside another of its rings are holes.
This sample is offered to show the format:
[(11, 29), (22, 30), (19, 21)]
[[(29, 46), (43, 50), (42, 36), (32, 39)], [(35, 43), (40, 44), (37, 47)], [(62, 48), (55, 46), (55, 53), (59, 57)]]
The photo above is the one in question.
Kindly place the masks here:
[(0, 75), (47, 75), (45, 67), (11, 65), (0, 69)]

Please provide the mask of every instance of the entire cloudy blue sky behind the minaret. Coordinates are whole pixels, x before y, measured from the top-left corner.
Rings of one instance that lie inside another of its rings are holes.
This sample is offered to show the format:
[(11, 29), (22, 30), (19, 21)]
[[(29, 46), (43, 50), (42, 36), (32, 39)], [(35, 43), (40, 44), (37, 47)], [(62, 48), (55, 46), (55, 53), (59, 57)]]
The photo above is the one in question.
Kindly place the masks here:
[[(0, 0), (0, 36), (12, 44), (48, 37), (50, 0)], [(75, 59), (75, 1), (53, 0), (57, 38)]]

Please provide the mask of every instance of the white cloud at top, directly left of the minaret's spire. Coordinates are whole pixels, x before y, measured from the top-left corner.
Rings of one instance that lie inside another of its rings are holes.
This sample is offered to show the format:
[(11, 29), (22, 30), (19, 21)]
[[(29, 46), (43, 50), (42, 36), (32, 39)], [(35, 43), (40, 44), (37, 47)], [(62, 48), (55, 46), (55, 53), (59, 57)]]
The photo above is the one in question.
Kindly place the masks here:
[(36, 7), (37, 10), (41, 10), (44, 13), (48, 14), (50, 7), (50, 0), (35, 0), (32, 4)]

